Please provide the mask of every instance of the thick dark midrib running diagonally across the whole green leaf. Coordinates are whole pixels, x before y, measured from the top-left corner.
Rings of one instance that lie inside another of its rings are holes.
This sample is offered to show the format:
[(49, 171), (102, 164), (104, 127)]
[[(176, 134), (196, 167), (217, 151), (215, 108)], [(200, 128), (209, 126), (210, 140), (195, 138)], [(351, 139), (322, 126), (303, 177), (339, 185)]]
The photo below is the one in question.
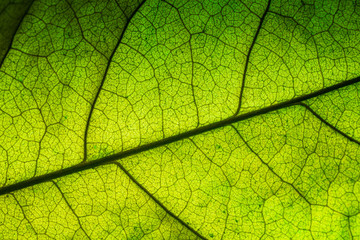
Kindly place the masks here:
[(202, 133), (205, 133), (205, 132), (208, 132), (208, 131), (211, 131), (211, 130), (214, 130), (214, 129), (217, 129), (217, 128), (220, 128), (220, 127), (224, 127), (224, 126), (230, 125), (230, 124), (235, 123), (235, 122), (240, 122), (240, 121), (249, 119), (251, 117), (255, 117), (255, 116), (259, 116), (259, 115), (266, 114), (266, 113), (269, 113), (269, 112), (273, 112), (273, 111), (276, 111), (276, 110), (279, 110), (279, 109), (282, 109), (282, 108), (292, 106), (294, 104), (299, 104), (302, 101), (305, 101), (305, 100), (308, 100), (308, 99), (311, 99), (311, 98), (326, 94), (328, 92), (331, 92), (331, 91), (334, 91), (334, 90), (337, 90), (337, 89), (340, 89), (340, 88), (355, 84), (355, 83), (357, 83), (359, 81), (360, 81), (360, 76), (356, 77), (356, 78), (353, 78), (351, 80), (347, 80), (347, 81), (335, 84), (333, 86), (330, 86), (330, 87), (315, 91), (315, 92), (307, 94), (307, 95), (303, 95), (303, 96), (300, 96), (300, 97), (293, 98), (293, 99), (291, 99), (289, 101), (286, 101), (286, 102), (278, 103), (278, 104), (275, 104), (275, 105), (272, 105), (272, 106), (269, 106), (269, 107), (265, 107), (265, 108), (255, 110), (255, 111), (252, 111), (252, 112), (248, 112), (248, 113), (245, 113), (245, 114), (241, 114), (241, 115), (238, 115), (238, 116), (232, 116), (230, 118), (221, 120), (219, 122), (211, 123), (209, 125), (202, 126), (202, 127), (199, 127), (199, 128), (196, 128), (196, 129), (184, 132), (184, 133), (180, 133), (180, 134), (175, 135), (175, 136), (164, 138), (164, 139), (161, 139), (161, 140), (149, 143), (149, 144), (145, 144), (145, 145), (133, 148), (133, 149), (129, 149), (129, 150), (126, 150), (126, 151), (123, 151), (123, 152), (120, 152), (120, 153), (116, 153), (116, 154), (113, 154), (113, 155), (110, 155), (110, 156), (106, 156), (106, 157), (103, 157), (103, 158), (100, 158), (100, 159), (97, 159), (97, 160), (94, 160), (94, 161), (82, 162), (82, 163), (79, 163), (79, 164), (74, 165), (72, 167), (57, 170), (57, 171), (54, 171), (52, 173), (44, 174), (44, 175), (37, 176), (37, 177), (31, 178), (31, 179), (27, 179), (27, 180), (24, 180), (24, 181), (21, 181), (21, 182), (12, 184), (12, 185), (8, 185), (8, 186), (0, 188), (0, 196), (4, 195), (4, 194), (11, 193), (11, 192), (16, 191), (16, 190), (20, 190), (20, 189), (23, 189), (23, 188), (34, 186), (34, 185), (39, 184), (39, 183), (47, 182), (47, 181), (50, 181), (50, 180), (53, 180), (53, 179), (56, 179), (56, 178), (59, 178), (59, 177), (64, 177), (64, 176), (67, 176), (69, 174), (81, 172), (83, 170), (87, 170), (87, 169), (90, 169), (90, 168), (95, 168), (95, 167), (98, 167), (98, 166), (101, 166), (101, 165), (104, 165), (104, 164), (108, 164), (108, 163), (111, 163), (111, 162), (114, 162), (114, 161), (129, 157), (129, 156), (132, 156), (132, 155), (144, 152), (144, 151), (148, 151), (148, 150), (151, 150), (151, 149), (154, 149), (154, 148), (157, 148), (157, 147), (164, 146), (166, 144), (170, 144), (170, 143), (180, 141), (180, 140), (183, 140), (183, 139), (195, 136), (195, 135), (199, 135), (199, 134), (202, 134)]

